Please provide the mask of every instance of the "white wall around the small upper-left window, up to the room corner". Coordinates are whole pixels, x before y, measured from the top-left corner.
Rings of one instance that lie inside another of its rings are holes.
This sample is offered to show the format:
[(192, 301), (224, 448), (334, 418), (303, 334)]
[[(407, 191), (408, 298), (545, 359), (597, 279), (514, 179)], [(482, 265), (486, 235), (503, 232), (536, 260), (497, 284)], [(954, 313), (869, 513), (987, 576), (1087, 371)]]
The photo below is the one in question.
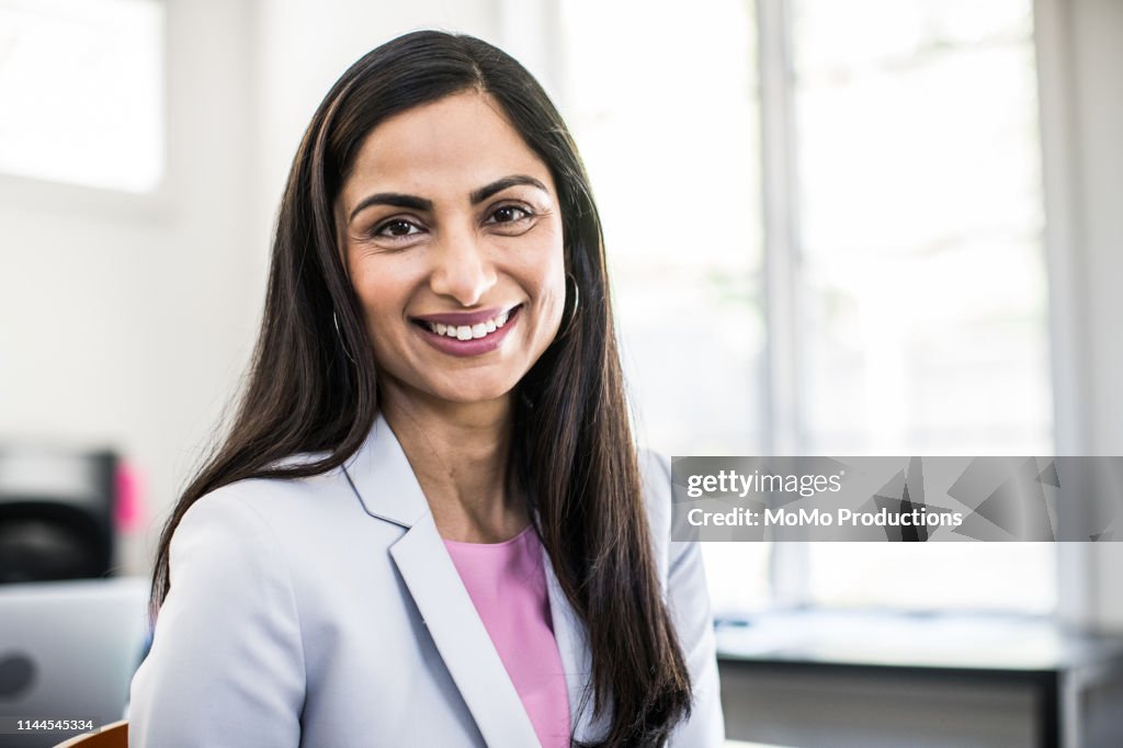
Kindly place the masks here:
[[(167, 3), (166, 184), (0, 181), (0, 438), (110, 445), (159, 512), (249, 340), (246, 2)], [(81, 127), (75, 112), (75, 127)], [(129, 571), (141, 544), (122, 549)]]

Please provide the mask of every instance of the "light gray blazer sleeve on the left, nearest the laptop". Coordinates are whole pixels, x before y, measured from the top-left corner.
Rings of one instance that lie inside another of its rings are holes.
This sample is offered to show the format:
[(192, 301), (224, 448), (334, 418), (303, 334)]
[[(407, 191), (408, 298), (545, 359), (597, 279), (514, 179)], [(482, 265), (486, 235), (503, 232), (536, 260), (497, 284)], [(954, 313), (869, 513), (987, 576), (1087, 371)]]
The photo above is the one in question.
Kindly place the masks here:
[(129, 745), (299, 746), (300, 623), (265, 519), (221, 489), (188, 510), (170, 560), (171, 592), (133, 678)]

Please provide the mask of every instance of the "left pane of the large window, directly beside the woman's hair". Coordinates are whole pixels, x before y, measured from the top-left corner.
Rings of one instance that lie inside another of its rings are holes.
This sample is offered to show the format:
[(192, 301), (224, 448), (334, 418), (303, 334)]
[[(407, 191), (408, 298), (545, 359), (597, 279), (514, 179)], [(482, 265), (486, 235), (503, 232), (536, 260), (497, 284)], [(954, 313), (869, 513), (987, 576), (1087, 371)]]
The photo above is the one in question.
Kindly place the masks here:
[[(767, 332), (751, 7), (613, 0), (562, 11), (563, 109), (604, 221), (638, 437), (668, 454), (758, 453)], [(621, 29), (631, 29), (626, 53)], [(710, 568), (738, 569), (710, 574), (715, 601), (768, 599), (768, 545), (705, 550)]]

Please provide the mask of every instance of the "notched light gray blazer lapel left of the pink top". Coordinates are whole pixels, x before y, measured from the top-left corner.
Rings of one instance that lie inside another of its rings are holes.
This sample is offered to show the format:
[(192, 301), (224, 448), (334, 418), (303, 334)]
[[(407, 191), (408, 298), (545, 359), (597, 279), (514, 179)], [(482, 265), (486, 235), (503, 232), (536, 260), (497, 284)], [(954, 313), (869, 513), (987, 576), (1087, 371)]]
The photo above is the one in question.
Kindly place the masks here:
[(346, 474), (367, 513), (408, 528), (390, 555), (489, 748), (540, 745), (413, 469), (381, 416)]

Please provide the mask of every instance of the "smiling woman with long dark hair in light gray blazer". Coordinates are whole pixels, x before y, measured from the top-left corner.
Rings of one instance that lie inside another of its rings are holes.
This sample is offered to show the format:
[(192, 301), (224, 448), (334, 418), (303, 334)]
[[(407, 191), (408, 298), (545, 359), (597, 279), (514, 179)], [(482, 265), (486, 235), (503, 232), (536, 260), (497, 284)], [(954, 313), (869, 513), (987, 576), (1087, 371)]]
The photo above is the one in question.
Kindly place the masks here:
[(293, 163), (240, 409), (159, 546), (130, 745), (720, 745), (669, 504), (559, 115), (478, 39), (394, 39)]

